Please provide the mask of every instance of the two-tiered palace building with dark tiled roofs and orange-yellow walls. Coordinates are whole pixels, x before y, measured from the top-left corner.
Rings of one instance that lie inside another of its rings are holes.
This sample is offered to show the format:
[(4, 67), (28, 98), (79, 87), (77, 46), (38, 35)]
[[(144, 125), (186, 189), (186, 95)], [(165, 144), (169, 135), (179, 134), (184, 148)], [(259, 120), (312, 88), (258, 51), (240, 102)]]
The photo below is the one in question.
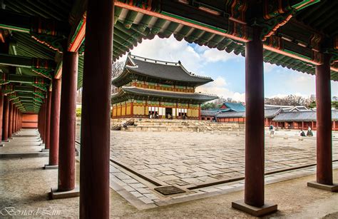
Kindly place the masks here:
[(213, 81), (196, 76), (178, 61), (158, 61), (128, 54), (123, 72), (113, 78), (112, 118), (200, 119), (200, 105), (217, 96), (196, 93), (195, 88)]

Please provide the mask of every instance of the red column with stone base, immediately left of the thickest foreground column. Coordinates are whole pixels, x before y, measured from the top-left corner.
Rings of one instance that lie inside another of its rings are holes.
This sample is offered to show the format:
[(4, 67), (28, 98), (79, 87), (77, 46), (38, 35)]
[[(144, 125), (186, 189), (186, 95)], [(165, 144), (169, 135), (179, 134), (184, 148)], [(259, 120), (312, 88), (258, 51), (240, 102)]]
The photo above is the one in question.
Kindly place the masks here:
[(58, 192), (63, 191), (68, 191), (68, 197), (79, 194), (78, 190), (74, 189), (78, 53), (63, 51), (62, 69), (58, 190), (53, 191), (52, 198), (58, 198)]

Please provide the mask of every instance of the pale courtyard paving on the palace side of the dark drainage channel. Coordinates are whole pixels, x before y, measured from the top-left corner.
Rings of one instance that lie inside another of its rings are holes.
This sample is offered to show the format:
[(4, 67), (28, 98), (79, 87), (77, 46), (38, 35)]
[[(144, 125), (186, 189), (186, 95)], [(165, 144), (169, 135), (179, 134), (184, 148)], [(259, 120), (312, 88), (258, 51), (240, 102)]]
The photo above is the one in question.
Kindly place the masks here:
[[(190, 188), (243, 176), (245, 136), (112, 131), (111, 159), (155, 178), (163, 185)], [(333, 159), (338, 159), (337, 141), (333, 141)], [(265, 172), (315, 162), (314, 138), (304, 138), (303, 141), (298, 138), (265, 138)], [(121, 177), (120, 180), (126, 180)]]

